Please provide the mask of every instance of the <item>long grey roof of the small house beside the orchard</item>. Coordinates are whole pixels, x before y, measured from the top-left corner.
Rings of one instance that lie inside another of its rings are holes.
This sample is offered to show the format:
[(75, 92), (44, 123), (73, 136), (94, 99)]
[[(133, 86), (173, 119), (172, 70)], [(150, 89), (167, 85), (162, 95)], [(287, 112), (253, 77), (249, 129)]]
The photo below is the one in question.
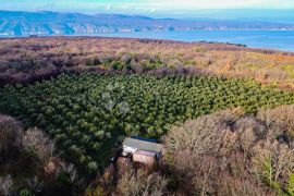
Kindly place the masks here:
[(161, 152), (163, 146), (157, 143), (150, 143), (147, 140), (140, 140), (136, 138), (126, 137), (123, 142), (123, 146), (128, 146), (132, 148), (136, 148), (139, 150), (152, 151), (152, 152)]

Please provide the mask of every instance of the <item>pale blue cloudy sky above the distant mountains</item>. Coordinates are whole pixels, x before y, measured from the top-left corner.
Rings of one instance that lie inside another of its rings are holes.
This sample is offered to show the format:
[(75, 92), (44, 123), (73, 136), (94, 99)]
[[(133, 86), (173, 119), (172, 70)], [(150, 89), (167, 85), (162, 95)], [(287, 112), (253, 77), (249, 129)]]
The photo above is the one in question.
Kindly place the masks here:
[(225, 16), (233, 14), (232, 10), (241, 10), (240, 13), (235, 11), (234, 15), (245, 17), (249, 13), (244, 10), (262, 10), (253, 14), (256, 17), (275, 17), (277, 14), (286, 17), (293, 13), (294, 0), (0, 0), (0, 10), (122, 13), (158, 17)]

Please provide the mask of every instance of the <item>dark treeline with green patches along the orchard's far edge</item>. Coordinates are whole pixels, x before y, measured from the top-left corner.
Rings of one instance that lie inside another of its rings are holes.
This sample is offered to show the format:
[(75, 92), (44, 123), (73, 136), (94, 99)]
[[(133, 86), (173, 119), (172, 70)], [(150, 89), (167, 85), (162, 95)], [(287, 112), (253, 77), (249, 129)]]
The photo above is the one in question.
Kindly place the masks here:
[[(7, 66), (7, 70), (5, 70)], [(10, 69), (9, 69), (10, 68)], [(69, 60), (60, 57), (42, 60), (22, 60), (10, 62), (0, 68), (0, 86), (5, 84), (30, 84), (49, 79), (62, 73), (79, 74), (84, 72), (113, 74), (147, 74), (147, 75), (208, 75), (203, 71), (186, 64), (179, 59), (161, 59), (149, 54), (122, 54), (120, 57), (87, 57)]]

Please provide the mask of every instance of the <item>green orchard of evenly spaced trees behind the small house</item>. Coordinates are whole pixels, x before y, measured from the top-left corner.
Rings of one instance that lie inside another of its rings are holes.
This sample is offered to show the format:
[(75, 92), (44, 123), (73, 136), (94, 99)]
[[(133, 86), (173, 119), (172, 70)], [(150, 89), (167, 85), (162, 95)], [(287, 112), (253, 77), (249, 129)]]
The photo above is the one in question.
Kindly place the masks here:
[[(254, 81), (221, 77), (61, 75), (0, 89), (0, 111), (39, 126), (64, 155), (93, 172), (124, 135), (159, 138), (175, 122), (226, 108), (294, 103), (294, 94)], [(111, 143), (111, 144), (110, 144)]]

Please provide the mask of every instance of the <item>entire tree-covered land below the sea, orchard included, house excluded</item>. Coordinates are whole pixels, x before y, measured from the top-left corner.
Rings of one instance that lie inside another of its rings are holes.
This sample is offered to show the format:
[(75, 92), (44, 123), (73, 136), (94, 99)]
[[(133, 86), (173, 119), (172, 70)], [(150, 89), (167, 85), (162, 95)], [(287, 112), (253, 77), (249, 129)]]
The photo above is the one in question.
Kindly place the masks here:
[[(115, 38), (0, 42), (1, 194), (293, 195), (292, 53)], [(156, 171), (110, 164), (134, 135), (164, 144)]]

